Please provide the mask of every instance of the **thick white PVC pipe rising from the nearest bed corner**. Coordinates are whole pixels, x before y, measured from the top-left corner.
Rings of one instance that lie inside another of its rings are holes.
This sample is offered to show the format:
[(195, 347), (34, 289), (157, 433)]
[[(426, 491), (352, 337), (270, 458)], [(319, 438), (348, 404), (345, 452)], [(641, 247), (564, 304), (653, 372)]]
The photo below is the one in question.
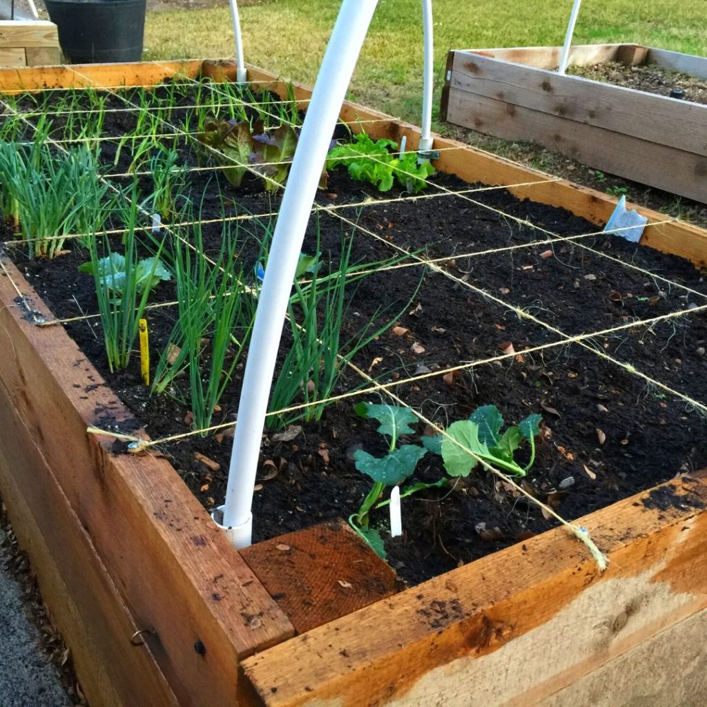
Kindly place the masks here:
[(282, 197), (245, 366), (226, 501), (214, 514), (235, 547), (251, 542), (253, 487), (287, 303), (329, 142), (377, 4), (341, 4)]

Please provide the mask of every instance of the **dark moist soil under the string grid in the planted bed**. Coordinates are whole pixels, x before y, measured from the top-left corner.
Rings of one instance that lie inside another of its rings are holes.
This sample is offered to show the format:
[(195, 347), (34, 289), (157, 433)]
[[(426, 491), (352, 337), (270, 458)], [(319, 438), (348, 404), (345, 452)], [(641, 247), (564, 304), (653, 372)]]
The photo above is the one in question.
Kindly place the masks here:
[[(107, 120), (106, 130), (119, 134), (129, 124), (129, 116), (113, 115)], [(196, 163), (192, 145), (185, 142), (180, 150), (187, 163)], [(106, 151), (105, 158), (112, 163), (110, 152)], [(124, 169), (122, 159), (118, 168)], [(254, 180), (234, 189), (217, 172), (192, 173), (192, 178), (199, 199), (203, 189), (211, 194), (204, 201), (204, 218), (221, 217), (218, 189), (226, 199), (228, 215), (267, 214), (278, 208), (280, 195), (265, 194)], [(149, 181), (142, 182), (146, 190)], [(548, 237), (497, 211), (561, 235), (597, 229), (567, 211), (519, 201), (501, 189), (472, 194), (472, 201), (443, 194), (444, 189), (468, 188), (456, 177), (438, 174), (431, 181), (426, 193), (439, 191), (436, 199), (376, 203), (381, 197), (404, 194), (395, 189), (381, 195), (373, 187), (352, 182), (343, 170), (336, 170), (329, 176), (327, 190), (317, 195), (317, 200), (327, 206), (360, 204), (370, 197), (365, 207), (337, 211), (365, 229), (356, 231), (354, 262), (391, 257), (396, 255), (396, 246), (420, 250), (430, 258), (455, 256), (443, 266), (443, 272), (429, 267), (395, 269), (368, 276), (351, 287), (342, 341), (368, 321), (395, 322), (408, 330), (402, 335), (390, 330), (382, 334), (354, 358), (354, 363), (380, 382), (394, 383), (416, 373), (498, 356), (508, 342), (513, 344), (518, 352), (515, 358), (486, 363), (445, 379), (437, 376), (401, 382), (392, 392), (443, 426), (464, 419), (482, 404), (496, 404), (508, 423), (517, 423), (530, 413), (542, 414), (537, 460), (522, 483), (568, 519), (676, 474), (707, 466), (707, 449), (703, 446), (707, 421), (703, 416), (679, 397), (646, 385), (645, 380), (597, 355), (600, 351), (617, 361), (629, 362), (674, 390), (707, 401), (707, 322), (703, 315), (593, 337), (585, 340), (585, 346), (563, 344), (523, 353), (534, 346), (562, 341), (562, 335), (550, 327), (579, 335), (702, 305), (707, 284), (699, 271), (682, 259), (615, 236), (566, 242), (551, 252), (547, 245), (537, 245), (472, 255)], [(240, 257), (247, 272), (252, 272), (257, 254), (252, 235), (262, 235), (269, 220), (245, 222)], [(322, 267), (327, 271), (337, 266), (342, 233), (350, 226), (335, 216), (322, 214), (317, 243), (314, 221), (303, 252), (320, 250)], [(204, 238), (207, 249), (216, 247), (221, 224), (206, 226)], [(78, 265), (87, 259), (85, 252), (72, 250), (54, 262), (28, 262), (20, 250), (12, 255), (54, 315), (63, 318), (96, 311), (93, 280), (77, 273)], [(646, 271), (696, 292), (667, 284)], [(173, 284), (160, 284), (152, 301), (172, 300), (174, 296)], [(518, 317), (509, 304), (547, 326)], [(165, 346), (174, 316), (173, 309), (151, 313), (153, 361)], [(83, 321), (66, 325), (66, 329), (152, 438), (189, 430), (185, 423), (187, 404), (173, 397), (151, 397), (141, 385), (138, 357), (134, 356), (127, 371), (112, 375), (105, 366), (100, 327)], [(286, 335), (282, 351), (288, 343)], [(242, 373), (240, 365), (214, 422), (233, 419)], [(87, 385), (93, 383), (87, 381)], [(338, 390), (360, 385), (360, 378), (346, 373)], [(366, 395), (364, 399), (378, 402), (380, 396)], [(375, 423), (356, 416), (356, 402), (356, 398), (345, 399), (330, 405), (320, 421), (303, 425), (291, 440), (279, 440), (281, 430), (265, 433), (255, 493), (255, 539), (329, 518), (347, 518), (357, 510), (370, 484), (354, 468), (352, 455), (361, 448), (383, 455), (387, 443), (375, 432)], [(418, 432), (424, 431), (420, 426)], [(408, 436), (401, 441), (417, 443), (418, 438)], [(170, 458), (206, 508), (222, 502), (229, 436), (191, 438), (163, 445), (160, 451)], [(194, 452), (214, 460), (218, 471), (204, 466)], [(527, 458), (527, 450), (524, 453)], [(440, 459), (428, 454), (419, 464), (415, 479), (435, 481), (443, 474)], [(403, 521), (404, 535), (387, 540), (387, 554), (399, 574), (411, 583), (554, 525), (537, 507), (485, 473), (472, 473), (447, 489), (406, 499)], [(385, 535), (385, 513), (375, 513), (373, 522)]]

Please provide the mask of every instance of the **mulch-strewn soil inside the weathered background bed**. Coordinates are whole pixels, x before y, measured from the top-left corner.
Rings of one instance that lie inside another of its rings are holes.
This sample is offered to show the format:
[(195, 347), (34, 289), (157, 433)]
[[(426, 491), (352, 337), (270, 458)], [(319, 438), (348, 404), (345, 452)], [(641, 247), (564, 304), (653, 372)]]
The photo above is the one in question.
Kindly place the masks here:
[(667, 71), (658, 64), (607, 62), (592, 66), (571, 66), (568, 73), (658, 95), (670, 96), (671, 91), (679, 90), (684, 92), (683, 100), (707, 104), (707, 81), (678, 71)]

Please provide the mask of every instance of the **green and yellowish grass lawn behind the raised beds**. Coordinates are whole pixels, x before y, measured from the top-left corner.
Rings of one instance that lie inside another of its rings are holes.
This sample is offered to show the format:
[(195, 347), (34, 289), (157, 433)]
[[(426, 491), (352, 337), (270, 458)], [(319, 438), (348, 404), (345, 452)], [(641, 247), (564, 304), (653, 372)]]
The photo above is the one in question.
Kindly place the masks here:
[[(240, 8), (245, 60), (285, 78), (312, 83), (340, 0), (265, 0)], [(433, 0), (437, 94), (448, 49), (559, 45), (571, 0)], [(705, 0), (584, 0), (575, 43), (636, 42), (707, 55)], [(148, 13), (146, 59), (223, 58), (234, 54), (228, 7)], [(422, 21), (420, 0), (380, 0), (361, 52), (349, 98), (419, 124)], [(471, 131), (454, 132), (476, 146), (550, 173), (592, 182), (591, 170), (537, 146), (499, 141)], [(653, 194), (629, 197), (672, 214), (692, 217), (679, 199), (656, 203)], [(707, 216), (707, 215), (706, 215)]]

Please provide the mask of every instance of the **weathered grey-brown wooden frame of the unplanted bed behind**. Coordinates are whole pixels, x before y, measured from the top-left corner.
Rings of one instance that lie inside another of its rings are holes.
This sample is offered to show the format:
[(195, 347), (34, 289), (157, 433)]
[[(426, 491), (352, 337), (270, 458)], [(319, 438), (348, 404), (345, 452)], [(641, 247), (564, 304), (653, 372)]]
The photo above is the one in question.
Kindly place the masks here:
[[(614, 175), (707, 202), (707, 105), (561, 76), (561, 47), (448, 54), (440, 117), (532, 140)], [(707, 58), (639, 45), (573, 47), (570, 64), (657, 64), (707, 79)]]

